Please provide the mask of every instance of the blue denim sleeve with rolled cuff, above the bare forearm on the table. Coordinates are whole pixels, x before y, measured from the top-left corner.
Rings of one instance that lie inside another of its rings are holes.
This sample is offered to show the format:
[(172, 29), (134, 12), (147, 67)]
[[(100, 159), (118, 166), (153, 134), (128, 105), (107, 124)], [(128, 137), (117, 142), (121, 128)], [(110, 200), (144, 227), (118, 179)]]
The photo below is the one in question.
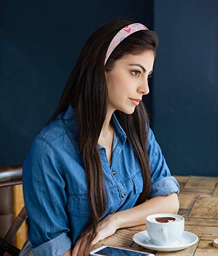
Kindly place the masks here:
[(149, 127), (148, 139), (149, 163), (151, 168), (151, 193), (150, 199), (158, 196), (179, 194), (179, 183), (171, 176), (171, 172), (162, 155), (154, 133)]

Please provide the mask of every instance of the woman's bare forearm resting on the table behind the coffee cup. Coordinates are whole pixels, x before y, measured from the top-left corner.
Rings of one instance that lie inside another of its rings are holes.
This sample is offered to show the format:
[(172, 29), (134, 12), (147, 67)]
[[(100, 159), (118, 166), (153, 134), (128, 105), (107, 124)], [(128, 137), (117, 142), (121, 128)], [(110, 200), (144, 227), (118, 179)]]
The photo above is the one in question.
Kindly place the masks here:
[(146, 223), (146, 217), (152, 214), (177, 214), (179, 200), (176, 193), (154, 197), (133, 208), (117, 211), (113, 214), (118, 228), (139, 226)]

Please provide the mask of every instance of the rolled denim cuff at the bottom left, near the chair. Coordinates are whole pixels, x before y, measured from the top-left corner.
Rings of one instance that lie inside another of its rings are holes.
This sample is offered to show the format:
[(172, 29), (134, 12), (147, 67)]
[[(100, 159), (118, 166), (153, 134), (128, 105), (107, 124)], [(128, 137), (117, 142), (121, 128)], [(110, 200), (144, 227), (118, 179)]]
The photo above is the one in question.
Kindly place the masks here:
[(41, 245), (31, 248), (36, 256), (51, 255), (59, 256), (67, 252), (71, 248), (71, 239), (67, 237), (67, 233), (63, 232), (56, 238), (49, 240)]

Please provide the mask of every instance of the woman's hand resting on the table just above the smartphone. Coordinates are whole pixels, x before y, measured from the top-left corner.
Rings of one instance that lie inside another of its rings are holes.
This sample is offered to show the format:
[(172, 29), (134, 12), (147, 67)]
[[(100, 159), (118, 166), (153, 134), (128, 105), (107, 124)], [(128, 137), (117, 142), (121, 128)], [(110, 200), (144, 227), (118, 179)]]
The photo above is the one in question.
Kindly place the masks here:
[(115, 233), (116, 229), (117, 224), (113, 218), (113, 215), (108, 215), (106, 218), (99, 222), (96, 236), (91, 242), (90, 247), (87, 246), (87, 238), (83, 237), (77, 241), (74, 249), (72, 250), (71, 256), (89, 255), (90, 250), (96, 243), (98, 243), (100, 240), (110, 237), (113, 233)]

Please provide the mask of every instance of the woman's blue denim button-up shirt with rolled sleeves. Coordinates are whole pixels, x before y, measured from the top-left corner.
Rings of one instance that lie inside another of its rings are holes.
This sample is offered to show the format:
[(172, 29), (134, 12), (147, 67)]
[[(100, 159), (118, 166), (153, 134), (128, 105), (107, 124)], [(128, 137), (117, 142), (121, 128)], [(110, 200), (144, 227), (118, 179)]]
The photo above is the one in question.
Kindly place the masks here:
[[(102, 218), (134, 207), (143, 188), (140, 165), (127, 135), (112, 114), (112, 161), (98, 144), (109, 198)], [(149, 128), (150, 198), (179, 193), (161, 149)], [(28, 213), (29, 241), (35, 255), (62, 255), (75, 244), (90, 219), (82, 153), (74, 110), (68, 105), (35, 137), (23, 163), (23, 196)]]

